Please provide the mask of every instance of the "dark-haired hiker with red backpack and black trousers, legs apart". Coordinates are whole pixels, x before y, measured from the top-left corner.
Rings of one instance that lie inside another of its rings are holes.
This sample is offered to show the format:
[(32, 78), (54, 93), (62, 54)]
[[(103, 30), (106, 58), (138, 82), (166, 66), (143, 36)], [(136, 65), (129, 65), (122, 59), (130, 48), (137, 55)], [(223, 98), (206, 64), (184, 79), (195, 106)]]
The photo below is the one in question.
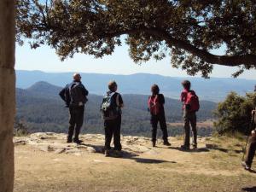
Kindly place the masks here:
[(152, 125), (152, 145), (155, 147), (157, 125), (160, 123), (160, 129), (163, 132), (164, 145), (171, 146), (168, 142), (168, 133), (166, 125), (166, 114), (165, 114), (165, 96), (160, 94), (160, 89), (157, 84), (153, 84), (151, 87), (152, 95), (148, 97), (148, 110), (151, 114), (150, 123)]

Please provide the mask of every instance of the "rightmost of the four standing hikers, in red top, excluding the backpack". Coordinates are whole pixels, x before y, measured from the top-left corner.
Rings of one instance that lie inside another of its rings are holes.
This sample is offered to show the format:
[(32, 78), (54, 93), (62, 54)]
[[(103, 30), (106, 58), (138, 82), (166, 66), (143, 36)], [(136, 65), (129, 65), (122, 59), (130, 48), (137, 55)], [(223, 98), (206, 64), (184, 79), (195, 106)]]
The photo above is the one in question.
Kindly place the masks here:
[(195, 91), (190, 90), (191, 83), (189, 82), (189, 80), (184, 80), (182, 82), (182, 85), (183, 85), (183, 91), (181, 93), (180, 100), (183, 103), (183, 119), (184, 119), (185, 133), (184, 133), (183, 145), (181, 146), (181, 148), (186, 150), (190, 148), (190, 141), (189, 141), (190, 125), (192, 127), (192, 132), (193, 132), (193, 148), (197, 148), (196, 111), (191, 110), (189, 105), (186, 103), (189, 92), (195, 94)]

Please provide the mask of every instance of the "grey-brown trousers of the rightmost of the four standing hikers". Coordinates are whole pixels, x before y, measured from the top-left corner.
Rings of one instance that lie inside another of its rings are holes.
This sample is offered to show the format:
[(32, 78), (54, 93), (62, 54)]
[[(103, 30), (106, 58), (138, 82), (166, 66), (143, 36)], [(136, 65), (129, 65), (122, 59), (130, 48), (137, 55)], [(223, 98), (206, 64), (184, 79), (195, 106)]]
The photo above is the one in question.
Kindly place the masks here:
[(185, 137), (184, 137), (184, 145), (189, 146), (190, 145), (190, 125), (192, 127), (193, 132), (193, 144), (197, 144), (197, 131), (196, 131), (196, 114), (195, 112), (189, 112), (187, 110), (183, 110), (183, 118), (184, 118), (184, 131), (185, 131)]

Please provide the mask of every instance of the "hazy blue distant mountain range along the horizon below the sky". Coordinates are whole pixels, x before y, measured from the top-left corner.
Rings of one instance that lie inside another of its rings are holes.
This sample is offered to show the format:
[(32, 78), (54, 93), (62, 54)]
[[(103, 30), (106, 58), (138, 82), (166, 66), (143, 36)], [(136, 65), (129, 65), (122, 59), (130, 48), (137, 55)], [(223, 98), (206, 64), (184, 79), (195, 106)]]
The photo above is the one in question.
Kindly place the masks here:
[[(18, 88), (28, 88), (38, 81), (46, 81), (49, 84), (65, 86), (72, 81), (73, 73), (44, 73), (41, 71), (16, 71)], [(81, 73), (82, 81), (90, 93), (103, 95), (107, 90), (108, 81), (114, 79), (119, 84), (119, 91), (124, 94), (150, 94), (150, 86), (159, 84), (160, 91), (165, 96), (178, 98), (182, 90), (183, 78), (165, 77), (155, 74), (136, 73), (131, 75), (113, 75), (98, 73)], [(203, 99), (213, 102), (223, 101), (230, 91), (236, 91), (240, 95), (253, 91), (256, 80), (247, 79), (223, 79), (223, 78), (186, 78), (192, 83), (192, 89)]]

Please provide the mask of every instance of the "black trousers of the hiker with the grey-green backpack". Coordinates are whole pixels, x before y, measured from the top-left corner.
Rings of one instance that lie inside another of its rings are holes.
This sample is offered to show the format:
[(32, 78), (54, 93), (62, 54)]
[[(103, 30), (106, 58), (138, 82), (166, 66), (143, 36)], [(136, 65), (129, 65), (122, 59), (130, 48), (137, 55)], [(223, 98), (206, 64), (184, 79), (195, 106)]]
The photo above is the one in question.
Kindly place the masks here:
[(122, 145), (120, 142), (120, 131), (121, 131), (122, 118), (119, 115), (116, 119), (105, 120), (105, 149), (110, 149), (111, 140), (113, 137), (114, 150), (122, 150)]

